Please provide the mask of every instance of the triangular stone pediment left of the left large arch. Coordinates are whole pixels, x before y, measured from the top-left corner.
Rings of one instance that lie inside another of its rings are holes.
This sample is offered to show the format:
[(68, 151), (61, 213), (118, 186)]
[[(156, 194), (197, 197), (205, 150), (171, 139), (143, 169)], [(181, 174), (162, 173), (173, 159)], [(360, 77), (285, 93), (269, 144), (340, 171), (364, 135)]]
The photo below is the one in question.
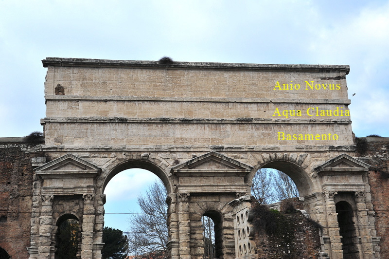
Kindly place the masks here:
[(60, 158), (54, 159), (49, 163), (35, 168), (35, 172), (47, 172), (47, 171), (99, 171), (100, 168), (90, 164), (89, 162), (76, 157), (72, 154), (66, 154)]

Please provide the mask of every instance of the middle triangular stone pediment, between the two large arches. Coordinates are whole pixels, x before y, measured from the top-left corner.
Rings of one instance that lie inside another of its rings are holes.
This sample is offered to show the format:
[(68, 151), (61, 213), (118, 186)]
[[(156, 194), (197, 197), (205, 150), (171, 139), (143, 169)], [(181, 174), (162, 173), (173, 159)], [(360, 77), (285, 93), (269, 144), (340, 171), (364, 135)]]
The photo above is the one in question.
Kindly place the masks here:
[(221, 153), (211, 151), (204, 155), (195, 157), (187, 162), (174, 166), (173, 172), (179, 170), (243, 170), (251, 171), (252, 166), (248, 166), (235, 159), (227, 157)]

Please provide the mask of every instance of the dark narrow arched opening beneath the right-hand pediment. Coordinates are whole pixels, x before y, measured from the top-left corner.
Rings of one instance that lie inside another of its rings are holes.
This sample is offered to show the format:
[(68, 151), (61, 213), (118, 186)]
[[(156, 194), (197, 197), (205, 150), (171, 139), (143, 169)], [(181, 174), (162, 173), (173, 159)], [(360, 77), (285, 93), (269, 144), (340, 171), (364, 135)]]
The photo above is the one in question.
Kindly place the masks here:
[(342, 249), (344, 259), (359, 259), (358, 236), (356, 235), (354, 212), (350, 203), (340, 201), (335, 204), (339, 235), (342, 236)]

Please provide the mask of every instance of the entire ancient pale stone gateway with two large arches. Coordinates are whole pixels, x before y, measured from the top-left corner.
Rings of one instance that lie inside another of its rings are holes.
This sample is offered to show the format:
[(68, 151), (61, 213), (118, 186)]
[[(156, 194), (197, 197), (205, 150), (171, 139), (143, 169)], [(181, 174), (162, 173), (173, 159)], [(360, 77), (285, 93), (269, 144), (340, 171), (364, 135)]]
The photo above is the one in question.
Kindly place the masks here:
[(54, 258), (64, 217), (82, 226), (81, 258), (101, 258), (104, 188), (132, 167), (168, 190), (173, 259), (202, 258), (203, 215), (216, 222), (219, 258), (250, 256), (236, 252), (229, 203), (250, 193), (261, 167), (294, 180), (332, 259), (343, 258), (343, 210), (354, 211), (360, 258), (379, 258), (369, 165), (352, 157), (348, 66), (73, 58), (43, 66), (48, 162), (35, 168), (30, 259)]

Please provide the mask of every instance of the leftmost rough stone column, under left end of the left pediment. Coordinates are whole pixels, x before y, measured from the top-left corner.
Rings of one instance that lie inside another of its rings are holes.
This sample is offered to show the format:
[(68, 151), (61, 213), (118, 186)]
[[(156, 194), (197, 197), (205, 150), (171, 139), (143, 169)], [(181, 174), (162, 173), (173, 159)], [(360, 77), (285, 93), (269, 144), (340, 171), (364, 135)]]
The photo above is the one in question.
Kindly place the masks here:
[(38, 259), (50, 258), (53, 233), (53, 195), (42, 195), (42, 209), (39, 217)]

